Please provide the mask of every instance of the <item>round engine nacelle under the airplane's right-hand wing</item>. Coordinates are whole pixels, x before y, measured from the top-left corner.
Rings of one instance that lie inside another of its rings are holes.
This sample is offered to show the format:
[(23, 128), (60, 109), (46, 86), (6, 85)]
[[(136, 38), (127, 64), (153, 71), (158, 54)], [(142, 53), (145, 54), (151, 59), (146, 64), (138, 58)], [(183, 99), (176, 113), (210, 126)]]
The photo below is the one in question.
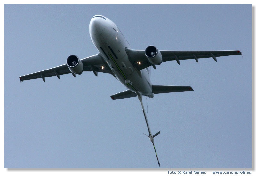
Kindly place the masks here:
[(162, 62), (162, 54), (155, 46), (148, 46), (145, 49), (145, 55), (148, 58), (148, 61), (152, 64), (160, 65)]

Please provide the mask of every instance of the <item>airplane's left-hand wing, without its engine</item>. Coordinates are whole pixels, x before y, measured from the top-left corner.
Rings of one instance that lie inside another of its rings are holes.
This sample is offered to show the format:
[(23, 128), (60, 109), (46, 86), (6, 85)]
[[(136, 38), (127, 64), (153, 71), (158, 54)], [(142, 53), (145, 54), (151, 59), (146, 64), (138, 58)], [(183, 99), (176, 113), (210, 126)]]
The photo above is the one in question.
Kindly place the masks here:
[[(111, 73), (110, 70), (107, 69), (107, 67), (104, 67), (104, 69), (101, 68), (102, 66), (104, 66), (104, 64), (103, 64), (100, 53), (81, 59), (81, 61), (84, 65), (83, 71), (93, 71), (96, 76), (98, 74), (97, 72)], [(42, 78), (45, 82), (45, 77), (57, 76), (60, 79), (60, 75), (64, 75), (68, 73), (71, 73), (71, 71), (69, 70), (67, 64), (64, 64), (58, 67), (53, 67), (51, 69), (42, 70), (36, 73), (24, 75), (19, 78), (20, 78), (20, 83), (24, 80), (37, 79), (37, 78)], [(73, 76), (76, 76), (76, 75), (73, 74)]]

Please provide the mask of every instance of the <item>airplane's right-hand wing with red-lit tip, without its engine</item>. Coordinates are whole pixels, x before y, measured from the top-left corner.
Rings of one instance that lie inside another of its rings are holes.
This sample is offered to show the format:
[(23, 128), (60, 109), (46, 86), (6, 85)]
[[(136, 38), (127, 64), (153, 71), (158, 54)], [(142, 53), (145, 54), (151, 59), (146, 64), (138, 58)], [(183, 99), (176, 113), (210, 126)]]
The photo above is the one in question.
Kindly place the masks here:
[[(148, 61), (145, 50), (134, 50), (125, 48), (126, 53), (129, 57), (132, 65), (137, 68), (137, 70), (145, 69), (152, 64)], [(216, 57), (228, 56), (228, 55), (242, 55), (239, 50), (227, 50), (227, 51), (160, 51), (162, 55), (162, 62), (166, 61), (177, 61), (180, 64), (180, 60), (198, 59), (212, 57), (217, 61)], [(140, 64), (139, 64), (140, 62)]]

